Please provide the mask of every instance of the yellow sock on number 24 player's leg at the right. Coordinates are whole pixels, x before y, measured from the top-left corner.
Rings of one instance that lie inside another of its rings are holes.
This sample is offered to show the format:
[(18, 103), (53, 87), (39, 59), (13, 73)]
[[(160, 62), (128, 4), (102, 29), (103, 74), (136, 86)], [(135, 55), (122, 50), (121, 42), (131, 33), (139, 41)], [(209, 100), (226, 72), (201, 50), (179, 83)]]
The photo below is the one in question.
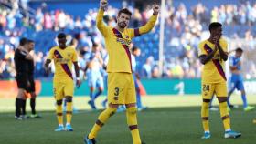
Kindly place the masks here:
[(220, 116), (223, 121), (224, 129), (229, 130), (230, 129), (230, 118), (229, 118), (229, 110), (228, 110), (227, 102), (219, 103), (219, 111), (220, 111)]

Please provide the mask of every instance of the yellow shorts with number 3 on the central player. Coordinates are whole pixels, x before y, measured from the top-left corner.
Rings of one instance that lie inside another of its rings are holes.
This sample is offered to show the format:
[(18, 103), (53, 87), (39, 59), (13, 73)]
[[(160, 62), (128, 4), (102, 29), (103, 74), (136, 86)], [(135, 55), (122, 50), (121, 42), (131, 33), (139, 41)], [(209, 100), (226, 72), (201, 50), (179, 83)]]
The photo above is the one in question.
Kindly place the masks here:
[(108, 101), (112, 104), (136, 103), (136, 92), (132, 74), (109, 73)]

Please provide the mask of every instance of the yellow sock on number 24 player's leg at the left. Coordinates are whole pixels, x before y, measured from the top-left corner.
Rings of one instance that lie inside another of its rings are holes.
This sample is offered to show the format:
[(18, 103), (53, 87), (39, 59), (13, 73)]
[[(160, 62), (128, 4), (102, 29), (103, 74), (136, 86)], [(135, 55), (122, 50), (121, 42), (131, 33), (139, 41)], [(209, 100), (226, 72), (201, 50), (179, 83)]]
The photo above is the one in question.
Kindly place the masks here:
[(205, 131), (209, 131), (208, 107), (209, 107), (209, 103), (208, 102), (203, 102), (202, 108), (201, 108), (201, 118), (202, 118), (203, 128), (204, 128)]

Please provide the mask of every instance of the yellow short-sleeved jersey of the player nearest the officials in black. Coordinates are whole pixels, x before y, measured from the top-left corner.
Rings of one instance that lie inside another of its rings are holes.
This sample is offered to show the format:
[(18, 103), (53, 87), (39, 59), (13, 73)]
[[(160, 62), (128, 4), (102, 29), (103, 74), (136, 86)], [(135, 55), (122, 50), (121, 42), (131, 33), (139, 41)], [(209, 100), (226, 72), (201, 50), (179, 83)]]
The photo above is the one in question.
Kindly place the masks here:
[(67, 46), (65, 49), (59, 46), (52, 47), (48, 53), (48, 59), (54, 61), (55, 80), (73, 79), (72, 67), (73, 62), (78, 61), (77, 52), (74, 48)]

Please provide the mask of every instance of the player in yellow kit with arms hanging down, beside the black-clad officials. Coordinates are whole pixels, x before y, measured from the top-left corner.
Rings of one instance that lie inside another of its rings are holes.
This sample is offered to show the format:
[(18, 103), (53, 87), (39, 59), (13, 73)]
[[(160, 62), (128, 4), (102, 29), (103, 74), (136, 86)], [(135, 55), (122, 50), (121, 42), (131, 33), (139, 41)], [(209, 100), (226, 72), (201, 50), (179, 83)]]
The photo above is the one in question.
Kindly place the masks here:
[[(54, 98), (57, 103), (57, 118), (59, 122), (59, 127), (55, 131), (73, 131), (70, 123), (72, 118), (72, 99), (74, 93), (74, 83), (72, 77), (72, 67), (75, 66), (76, 71), (76, 84), (77, 87), (80, 87), (80, 67), (78, 66), (78, 57), (76, 50), (70, 46), (66, 46), (66, 35), (60, 33), (58, 36), (59, 46), (54, 46), (50, 49), (48, 53), (48, 59), (45, 63), (45, 69), (48, 72), (48, 65), (51, 60), (54, 61), (55, 74), (53, 78), (53, 90)], [(62, 117), (62, 99), (66, 98), (67, 101), (67, 123), (66, 128), (63, 126), (63, 117)]]

